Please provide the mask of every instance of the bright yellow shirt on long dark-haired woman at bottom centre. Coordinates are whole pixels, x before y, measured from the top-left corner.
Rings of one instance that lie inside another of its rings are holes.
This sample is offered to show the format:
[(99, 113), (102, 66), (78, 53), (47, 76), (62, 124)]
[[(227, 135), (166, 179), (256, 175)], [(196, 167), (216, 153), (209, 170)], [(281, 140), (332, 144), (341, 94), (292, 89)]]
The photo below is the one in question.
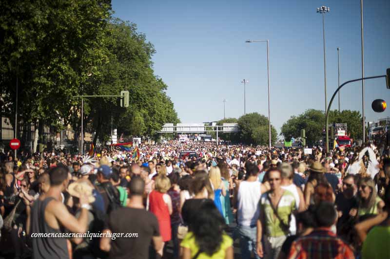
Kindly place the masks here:
[[(199, 247), (195, 242), (195, 236), (192, 232), (188, 232), (188, 234), (184, 237), (183, 241), (181, 241), (180, 245), (191, 250), (191, 258), (195, 257), (196, 253), (199, 250)], [(232, 238), (224, 233), (222, 235), (222, 243), (219, 250), (216, 251), (211, 257), (206, 253), (200, 253), (198, 259), (223, 259), (225, 258), (226, 249), (228, 249), (232, 245)]]

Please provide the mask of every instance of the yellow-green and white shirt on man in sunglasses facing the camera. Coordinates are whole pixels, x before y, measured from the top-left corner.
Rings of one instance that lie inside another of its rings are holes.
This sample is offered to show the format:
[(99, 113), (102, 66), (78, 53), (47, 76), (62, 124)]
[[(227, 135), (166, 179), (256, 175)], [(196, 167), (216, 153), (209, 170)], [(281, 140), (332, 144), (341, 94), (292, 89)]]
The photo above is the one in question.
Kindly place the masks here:
[[(260, 211), (263, 211), (265, 215), (265, 229), (267, 231), (267, 234), (270, 237), (281, 237), (281, 236), (287, 236), (289, 233), (286, 232), (286, 230), (283, 230), (279, 219), (274, 216), (272, 206), (270, 204), (270, 199), (268, 199), (269, 192), (264, 193), (261, 195), (260, 198)], [(285, 190), (282, 194), (282, 197), (280, 197), (280, 201), (277, 204), (277, 214), (280, 217), (280, 219), (286, 224), (290, 224), (290, 215), (292, 211), (295, 210), (295, 197), (292, 194), (292, 192)]]

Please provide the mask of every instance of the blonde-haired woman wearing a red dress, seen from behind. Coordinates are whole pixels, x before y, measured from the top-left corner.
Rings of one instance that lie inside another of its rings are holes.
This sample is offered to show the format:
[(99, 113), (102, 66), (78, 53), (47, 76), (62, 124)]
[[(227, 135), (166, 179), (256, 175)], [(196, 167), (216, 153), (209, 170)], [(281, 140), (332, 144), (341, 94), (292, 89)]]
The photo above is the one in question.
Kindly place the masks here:
[[(171, 217), (173, 212), (171, 197), (167, 194), (171, 188), (171, 181), (166, 175), (159, 174), (155, 180), (155, 189), (149, 194), (149, 210), (156, 215), (162, 241), (165, 243), (172, 239)], [(164, 244), (163, 243), (163, 244)], [(162, 256), (164, 245), (160, 251)]]

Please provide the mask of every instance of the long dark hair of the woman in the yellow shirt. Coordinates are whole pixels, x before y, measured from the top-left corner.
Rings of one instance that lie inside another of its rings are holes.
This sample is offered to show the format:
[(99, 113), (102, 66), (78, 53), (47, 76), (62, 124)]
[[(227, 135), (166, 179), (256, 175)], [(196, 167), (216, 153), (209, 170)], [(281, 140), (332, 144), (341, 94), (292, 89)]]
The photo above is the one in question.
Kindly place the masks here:
[(192, 229), (199, 249), (209, 256), (217, 252), (222, 243), (225, 221), (212, 200), (204, 200), (194, 214)]

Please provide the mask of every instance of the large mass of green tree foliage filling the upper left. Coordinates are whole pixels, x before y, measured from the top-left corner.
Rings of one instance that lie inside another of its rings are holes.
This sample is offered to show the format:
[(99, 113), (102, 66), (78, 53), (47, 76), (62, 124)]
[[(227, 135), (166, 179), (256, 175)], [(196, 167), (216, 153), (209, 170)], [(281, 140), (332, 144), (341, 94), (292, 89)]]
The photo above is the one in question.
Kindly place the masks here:
[[(114, 19), (110, 0), (0, 1), (0, 111), (46, 125), (80, 129), (80, 98), (130, 92), (118, 98), (84, 98), (84, 127), (106, 138), (111, 126), (153, 135), (177, 123), (167, 85), (153, 71), (155, 49), (134, 23)], [(111, 124), (112, 121), (112, 124)]]

